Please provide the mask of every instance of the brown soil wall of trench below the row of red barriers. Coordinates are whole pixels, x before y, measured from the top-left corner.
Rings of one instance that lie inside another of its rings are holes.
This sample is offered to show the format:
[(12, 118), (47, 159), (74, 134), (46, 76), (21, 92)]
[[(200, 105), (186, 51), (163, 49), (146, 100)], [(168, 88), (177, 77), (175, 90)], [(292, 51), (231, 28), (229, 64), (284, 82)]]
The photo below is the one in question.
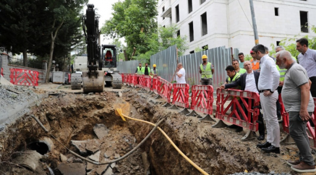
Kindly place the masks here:
[[(228, 128), (212, 128), (213, 122), (201, 122), (196, 117), (180, 115), (176, 110), (162, 107), (163, 100), (153, 100), (154, 95), (124, 93), (123, 99), (131, 105), (130, 116), (152, 123), (166, 118), (161, 128), (178, 148), (210, 175), (228, 175), (236, 172), (277, 173), (289, 172), (285, 165), (289, 151), (281, 147), (280, 155), (264, 154), (256, 148), (258, 140), (241, 141), (245, 135)], [(128, 121), (128, 127), (137, 140), (143, 139), (152, 126)], [(167, 139), (156, 131), (142, 146), (148, 152), (153, 175), (201, 174), (185, 160)], [(296, 153), (290, 150), (290, 155)]]

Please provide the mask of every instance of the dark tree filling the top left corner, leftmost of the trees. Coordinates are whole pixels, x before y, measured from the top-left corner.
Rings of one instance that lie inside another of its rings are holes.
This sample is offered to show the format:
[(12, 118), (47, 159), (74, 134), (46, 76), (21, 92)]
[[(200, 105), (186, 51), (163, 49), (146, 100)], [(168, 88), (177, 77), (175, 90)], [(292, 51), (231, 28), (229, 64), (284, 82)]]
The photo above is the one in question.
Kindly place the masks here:
[(27, 53), (41, 45), (45, 35), (48, 3), (41, 0), (3, 0), (0, 3), (0, 45), (14, 54), (23, 53), (23, 65), (28, 66)]

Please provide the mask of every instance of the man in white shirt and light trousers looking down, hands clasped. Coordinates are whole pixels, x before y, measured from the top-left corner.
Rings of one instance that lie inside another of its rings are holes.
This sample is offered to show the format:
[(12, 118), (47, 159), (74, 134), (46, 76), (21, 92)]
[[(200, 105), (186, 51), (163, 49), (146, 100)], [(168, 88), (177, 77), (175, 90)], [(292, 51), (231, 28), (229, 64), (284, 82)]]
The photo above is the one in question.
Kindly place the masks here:
[(265, 53), (265, 48), (262, 44), (254, 46), (252, 51), (254, 57), (261, 62), (258, 90), (263, 110), (263, 119), (267, 130), (266, 142), (257, 144), (257, 147), (267, 153), (280, 154), (280, 126), (276, 105), (279, 97), (278, 90), (276, 89), (279, 86), (280, 72), (274, 60)]

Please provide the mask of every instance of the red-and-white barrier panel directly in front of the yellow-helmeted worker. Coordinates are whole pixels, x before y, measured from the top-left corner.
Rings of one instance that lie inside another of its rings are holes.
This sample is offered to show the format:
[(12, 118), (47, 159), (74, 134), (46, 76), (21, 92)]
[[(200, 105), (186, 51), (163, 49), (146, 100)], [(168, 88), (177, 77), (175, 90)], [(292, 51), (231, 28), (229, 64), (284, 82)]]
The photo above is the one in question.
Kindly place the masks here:
[(211, 115), (214, 101), (213, 87), (209, 85), (194, 85), (191, 90), (191, 109)]

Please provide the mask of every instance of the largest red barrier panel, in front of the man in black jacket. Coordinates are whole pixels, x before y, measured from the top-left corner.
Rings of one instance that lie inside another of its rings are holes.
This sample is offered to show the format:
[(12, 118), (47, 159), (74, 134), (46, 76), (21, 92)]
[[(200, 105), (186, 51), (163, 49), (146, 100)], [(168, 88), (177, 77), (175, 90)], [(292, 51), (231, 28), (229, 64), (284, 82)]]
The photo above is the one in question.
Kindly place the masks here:
[[(242, 126), (244, 128), (247, 128), (251, 131), (257, 131), (258, 130), (258, 123), (256, 121), (258, 120), (259, 116), (259, 108), (252, 109), (251, 106), (259, 106), (260, 103), (260, 97), (258, 93), (255, 92), (249, 92), (249, 91), (242, 91), (242, 90), (236, 90), (236, 89), (229, 89), (228, 91), (225, 91), (224, 89), (218, 88), (216, 91), (217, 94), (217, 101), (216, 101), (216, 118), (220, 119), (222, 121), (226, 121), (229, 123), (236, 124), (238, 126)], [(226, 96), (226, 97), (225, 97)], [(229, 105), (224, 108), (224, 104), (227, 102), (229, 97), (240, 97), (242, 104), (245, 105), (247, 111), (243, 110), (241, 104), (238, 102), (237, 98), (233, 98)], [(248, 102), (246, 102), (246, 99), (249, 99)], [(254, 104), (252, 105), (252, 100), (254, 100)], [(230, 106), (233, 105), (233, 110), (229, 113), (229, 115), (226, 115), (226, 112), (230, 108)], [(241, 119), (237, 112), (237, 107), (240, 109), (240, 113), (242, 114), (244, 120)], [(251, 122), (251, 114), (254, 121)], [(236, 118), (233, 117), (233, 115), (236, 116)]]

